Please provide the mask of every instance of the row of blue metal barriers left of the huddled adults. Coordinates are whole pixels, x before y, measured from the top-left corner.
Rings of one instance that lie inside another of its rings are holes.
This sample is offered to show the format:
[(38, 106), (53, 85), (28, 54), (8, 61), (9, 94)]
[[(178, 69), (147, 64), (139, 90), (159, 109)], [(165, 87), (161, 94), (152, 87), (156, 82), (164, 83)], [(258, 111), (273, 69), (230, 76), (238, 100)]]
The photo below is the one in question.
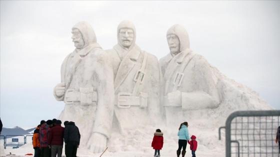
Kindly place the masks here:
[(33, 141), (33, 135), (6, 135), (0, 136), (0, 145), (4, 146), (4, 149), (17, 149), (27, 143)]

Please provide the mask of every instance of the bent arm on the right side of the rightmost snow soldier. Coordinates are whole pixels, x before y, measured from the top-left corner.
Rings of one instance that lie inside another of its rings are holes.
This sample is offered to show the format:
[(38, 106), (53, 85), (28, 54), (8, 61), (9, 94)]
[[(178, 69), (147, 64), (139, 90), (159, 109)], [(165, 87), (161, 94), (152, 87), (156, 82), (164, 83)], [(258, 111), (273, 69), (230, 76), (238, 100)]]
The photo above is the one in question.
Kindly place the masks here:
[(220, 100), (208, 62), (200, 56), (191, 68), (191, 92), (181, 92), (181, 104), (184, 110), (217, 108)]

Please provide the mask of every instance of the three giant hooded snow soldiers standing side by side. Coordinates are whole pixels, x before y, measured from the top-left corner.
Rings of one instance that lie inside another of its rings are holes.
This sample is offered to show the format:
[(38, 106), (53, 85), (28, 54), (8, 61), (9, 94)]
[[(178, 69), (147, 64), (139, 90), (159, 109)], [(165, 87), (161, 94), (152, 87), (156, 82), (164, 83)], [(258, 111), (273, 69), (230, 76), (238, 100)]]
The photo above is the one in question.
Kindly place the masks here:
[[(93, 153), (106, 148), (113, 122), (120, 133), (157, 124), (163, 115), (168, 126), (176, 126), (186, 111), (220, 103), (210, 65), (192, 52), (182, 25), (167, 30), (170, 52), (159, 61), (136, 45), (136, 29), (129, 20), (119, 23), (117, 44), (108, 50), (85, 21), (76, 23), (71, 33), (75, 49), (61, 65), (61, 82), (53, 95), (65, 103), (61, 120), (75, 117), (78, 126), (92, 133), (84, 143)], [(82, 125), (85, 119), (90, 125)]]

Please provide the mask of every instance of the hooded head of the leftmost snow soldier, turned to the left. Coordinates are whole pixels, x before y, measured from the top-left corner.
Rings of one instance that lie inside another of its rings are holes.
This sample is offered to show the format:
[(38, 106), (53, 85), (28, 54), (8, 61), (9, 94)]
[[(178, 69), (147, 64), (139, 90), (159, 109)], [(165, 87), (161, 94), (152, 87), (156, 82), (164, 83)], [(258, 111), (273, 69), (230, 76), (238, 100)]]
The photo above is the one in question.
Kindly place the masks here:
[(96, 43), (93, 28), (85, 21), (80, 21), (72, 27), (72, 41), (76, 49), (82, 49), (90, 44)]

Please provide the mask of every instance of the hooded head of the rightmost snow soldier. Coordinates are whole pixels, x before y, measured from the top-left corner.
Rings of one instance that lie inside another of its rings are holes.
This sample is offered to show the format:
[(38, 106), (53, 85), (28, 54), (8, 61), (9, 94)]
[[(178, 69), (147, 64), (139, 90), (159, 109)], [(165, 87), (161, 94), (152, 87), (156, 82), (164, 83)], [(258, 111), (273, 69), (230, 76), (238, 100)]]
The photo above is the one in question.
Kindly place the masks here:
[(189, 48), (189, 38), (187, 31), (180, 24), (172, 25), (167, 30), (166, 38), (170, 52), (174, 55)]

